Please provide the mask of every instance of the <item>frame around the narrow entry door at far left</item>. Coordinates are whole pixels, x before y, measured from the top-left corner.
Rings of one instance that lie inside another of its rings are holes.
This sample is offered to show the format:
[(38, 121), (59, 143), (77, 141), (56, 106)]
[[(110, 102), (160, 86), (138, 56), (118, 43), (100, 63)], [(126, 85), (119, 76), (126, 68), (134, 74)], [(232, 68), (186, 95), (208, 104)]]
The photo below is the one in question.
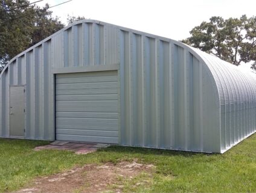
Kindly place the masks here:
[[(11, 134), (11, 116), (10, 116), (10, 106), (11, 106), (11, 87), (24, 87), (24, 136), (12, 136)], [(14, 138), (14, 139), (25, 139), (26, 135), (26, 120), (27, 120), (27, 88), (26, 85), (9, 85), (9, 108), (8, 108), (8, 116), (9, 116), (9, 138)]]

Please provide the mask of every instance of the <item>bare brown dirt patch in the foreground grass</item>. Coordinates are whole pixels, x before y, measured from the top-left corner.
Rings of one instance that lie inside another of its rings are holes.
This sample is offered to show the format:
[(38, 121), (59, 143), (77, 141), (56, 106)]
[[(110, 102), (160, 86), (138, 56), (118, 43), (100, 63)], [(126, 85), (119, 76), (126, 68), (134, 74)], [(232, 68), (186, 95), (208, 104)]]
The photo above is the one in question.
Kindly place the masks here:
[[(52, 193), (52, 192), (122, 192), (122, 180), (132, 180), (139, 174), (152, 173), (154, 165), (133, 162), (120, 162), (118, 164), (106, 163), (103, 165), (87, 164), (84, 167), (73, 168), (65, 173), (41, 177), (33, 185), (18, 193)], [(136, 182), (135, 186), (148, 183)], [(113, 188), (114, 187), (114, 188)]]

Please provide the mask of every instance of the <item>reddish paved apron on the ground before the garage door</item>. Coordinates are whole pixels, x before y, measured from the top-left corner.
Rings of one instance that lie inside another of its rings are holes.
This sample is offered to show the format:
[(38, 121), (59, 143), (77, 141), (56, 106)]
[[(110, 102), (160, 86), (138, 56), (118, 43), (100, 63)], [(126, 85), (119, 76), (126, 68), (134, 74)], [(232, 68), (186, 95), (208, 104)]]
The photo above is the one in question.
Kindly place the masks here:
[(36, 147), (34, 150), (69, 150), (72, 152), (75, 152), (77, 154), (88, 154), (97, 151), (100, 147), (107, 147), (108, 144), (94, 144), (94, 143), (86, 143), (86, 142), (53, 142), (52, 144), (46, 145), (46, 146), (39, 146)]

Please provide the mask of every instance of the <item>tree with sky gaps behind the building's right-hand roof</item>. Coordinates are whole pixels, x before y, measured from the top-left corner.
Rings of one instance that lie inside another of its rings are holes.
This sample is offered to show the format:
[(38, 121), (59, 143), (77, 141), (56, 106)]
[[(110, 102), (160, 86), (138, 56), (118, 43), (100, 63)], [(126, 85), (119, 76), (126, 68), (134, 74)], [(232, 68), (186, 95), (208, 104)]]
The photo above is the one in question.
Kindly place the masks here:
[(236, 66), (254, 62), (256, 69), (256, 17), (243, 15), (239, 19), (211, 17), (210, 22), (202, 22), (190, 31), (191, 37), (182, 40), (209, 54)]

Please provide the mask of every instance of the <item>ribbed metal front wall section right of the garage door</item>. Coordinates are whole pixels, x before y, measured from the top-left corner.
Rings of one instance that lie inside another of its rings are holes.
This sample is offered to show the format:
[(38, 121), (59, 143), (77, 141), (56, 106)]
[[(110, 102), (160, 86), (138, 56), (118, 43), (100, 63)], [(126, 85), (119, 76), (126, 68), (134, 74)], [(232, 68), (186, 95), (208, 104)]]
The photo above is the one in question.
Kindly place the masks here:
[(218, 96), (208, 67), (181, 43), (126, 30), (120, 51), (120, 143), (218, 151)]

